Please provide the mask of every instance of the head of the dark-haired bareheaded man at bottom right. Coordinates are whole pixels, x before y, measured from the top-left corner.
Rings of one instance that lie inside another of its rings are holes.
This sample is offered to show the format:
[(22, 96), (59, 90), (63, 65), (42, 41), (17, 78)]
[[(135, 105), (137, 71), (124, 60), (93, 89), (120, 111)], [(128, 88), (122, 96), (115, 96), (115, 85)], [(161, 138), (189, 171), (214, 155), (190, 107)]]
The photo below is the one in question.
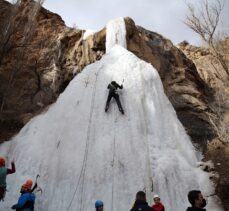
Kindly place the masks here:
[(192, 207), (204, 208), (206, 206), (206, 200), (199, 190), (191, 190), (188, 193), (188, 200)]

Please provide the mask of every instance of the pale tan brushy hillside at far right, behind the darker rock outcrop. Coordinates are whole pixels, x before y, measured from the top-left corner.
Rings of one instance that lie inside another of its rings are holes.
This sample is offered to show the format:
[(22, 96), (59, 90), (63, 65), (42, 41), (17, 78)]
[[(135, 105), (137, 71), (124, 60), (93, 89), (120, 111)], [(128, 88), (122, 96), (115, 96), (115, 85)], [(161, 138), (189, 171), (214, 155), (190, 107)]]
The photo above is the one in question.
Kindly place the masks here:
[[(224, 57), (229, 61), (229, 39), (222, 43)], [(196, 65), (199, 76), (214, 91), (213, 98), (208, 100), (208, 106), (217, 116), (212, 121), (217, 133), (206, 145), (204, 160), (212, 160), (218, 178), (213, 178), (217, 184), (216, 193), (229, 210), (229, 81), (226, 71), (217, 59), (206, 48), (195, 47), (188, 43), (178, 46)]]

